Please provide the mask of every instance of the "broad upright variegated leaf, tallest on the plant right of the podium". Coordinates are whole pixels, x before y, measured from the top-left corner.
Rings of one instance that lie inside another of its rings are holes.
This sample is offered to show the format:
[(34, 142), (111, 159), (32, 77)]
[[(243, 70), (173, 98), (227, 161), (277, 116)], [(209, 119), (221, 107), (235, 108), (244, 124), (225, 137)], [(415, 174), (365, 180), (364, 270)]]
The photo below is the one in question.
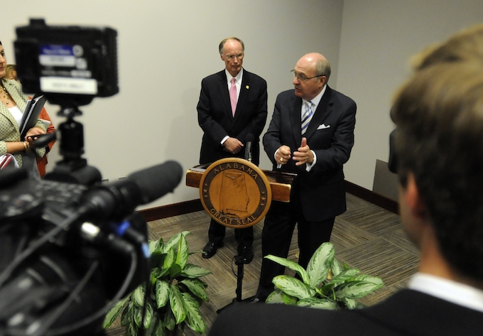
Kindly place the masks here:
[(325, 281), (327, 274), (334, 259), (334, 245), (330, 242), (322, 243), (317, 250), (315, 250), (312, 258), (307, 265), (307, 273), (310, 278), (310, 287), (317, 287)]

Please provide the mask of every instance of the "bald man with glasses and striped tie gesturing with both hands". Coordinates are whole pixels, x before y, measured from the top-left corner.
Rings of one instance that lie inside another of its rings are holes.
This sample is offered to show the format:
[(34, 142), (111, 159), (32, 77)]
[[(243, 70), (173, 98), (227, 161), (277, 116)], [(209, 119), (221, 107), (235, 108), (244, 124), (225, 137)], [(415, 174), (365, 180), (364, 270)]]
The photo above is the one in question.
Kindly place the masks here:
[[(264, 147), (273, 170), (297, 173), (291, 201), (272, 202), (265, 218), (262, 254), (286, 257), (298, 224), (300, 266), (328, 242), (335, 216), (346, 210), (342, 165), (354, 145), (356, 104), (327, 86), (330, 64), (319, 53), (298, 60), (294, 90), (278, 94)], [(262, 261), (256, 300), (273, 291), (274, 276), (283, 266)]]

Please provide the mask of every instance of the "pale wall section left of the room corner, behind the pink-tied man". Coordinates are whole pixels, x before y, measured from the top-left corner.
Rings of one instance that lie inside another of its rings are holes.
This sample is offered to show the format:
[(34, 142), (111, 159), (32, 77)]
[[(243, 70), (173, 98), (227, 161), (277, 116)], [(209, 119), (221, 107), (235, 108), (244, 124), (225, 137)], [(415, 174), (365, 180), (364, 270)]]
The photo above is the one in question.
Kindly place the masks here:
[[(94, 99), (77, 119), (85, 128), (84, 157), (113, 180), (170, 159), (185, 170), (198, 163), (200, 83), (223, 69), (217, 49), (225, 37), (244, 40), (244, 67), (267, 80), (269, 119), (276, 94), (292, 87), (290, 70), (303, 54), (324, 53), (336, 70), (335, 84), (342, 6), (341, 0), (3, 1), (2, 12), (9, 15), (1, 19), (0, 40), (13, 63), (14, 28), (31, 17), (118, 31), (120, 93)], [(48, 107), (58, 125), (57, 111)], [(54, 146), (49, 154), (49, 169), (57, 151)], [(271, 168), (264, 153), (261, 168)], [(183, 180), (175, 193), (146, 207), (198, 197)]]

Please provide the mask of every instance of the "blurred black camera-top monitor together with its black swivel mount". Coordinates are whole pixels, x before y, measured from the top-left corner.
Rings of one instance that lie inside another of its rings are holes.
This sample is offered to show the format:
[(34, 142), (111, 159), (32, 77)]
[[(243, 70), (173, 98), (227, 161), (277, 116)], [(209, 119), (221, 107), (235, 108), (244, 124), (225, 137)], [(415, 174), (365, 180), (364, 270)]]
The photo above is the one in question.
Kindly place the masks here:
[[(108, 27), (48, 26), (42, 18), (16, 28), (14, 42), (17, 75), (24, 92), (44, 94), (50, 104), (60, 105), (60, 155), (47, 180), (92, 185), (101, 174), (87, 165), (83, 126), (75, 121), (79, 107), (94, 97), (119, 92), (117, 85), (117, 32)], [(51, 139), (42, 139), (39, 146)]]

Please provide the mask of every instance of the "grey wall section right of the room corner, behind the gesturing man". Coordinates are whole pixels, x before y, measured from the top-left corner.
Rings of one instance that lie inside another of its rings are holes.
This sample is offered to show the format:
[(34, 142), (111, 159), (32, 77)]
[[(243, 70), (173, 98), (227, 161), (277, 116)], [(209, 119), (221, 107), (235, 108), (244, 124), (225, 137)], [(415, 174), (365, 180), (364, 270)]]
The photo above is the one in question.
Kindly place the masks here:
[(393, 93), (411, 55), (483, 22), (481, 0), (345, 0), (337, 90), (357, 102), (346, 179), (372, 189), (376, 159), (388, 161)]

